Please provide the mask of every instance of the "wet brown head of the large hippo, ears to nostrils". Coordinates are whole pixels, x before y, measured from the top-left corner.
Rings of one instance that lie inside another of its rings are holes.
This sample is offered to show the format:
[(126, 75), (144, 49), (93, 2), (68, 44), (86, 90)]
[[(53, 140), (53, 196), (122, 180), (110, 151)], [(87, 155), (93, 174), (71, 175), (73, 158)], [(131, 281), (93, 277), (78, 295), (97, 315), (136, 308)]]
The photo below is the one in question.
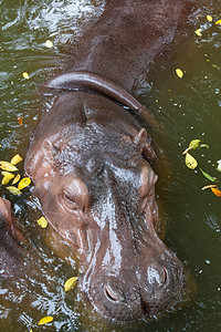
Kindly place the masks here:
[(186, 273), (158, 237), (157, 175), (143, 154), (147, 132), (126, 133), (133, 117), (127, 111), (124, 124), (109, 124), (108, 103), (112, 114), (123, 110), (108, 100), (107, 118), (98, 121), (97, 101), (83, 100), (86, 123), (78, 118), (43, 139), (38, 152), (33, 146), (27, 168), (44, 215), (77, 248), (78, 286), (97, 311), (116, 321), (151, 319), (182, 302)]

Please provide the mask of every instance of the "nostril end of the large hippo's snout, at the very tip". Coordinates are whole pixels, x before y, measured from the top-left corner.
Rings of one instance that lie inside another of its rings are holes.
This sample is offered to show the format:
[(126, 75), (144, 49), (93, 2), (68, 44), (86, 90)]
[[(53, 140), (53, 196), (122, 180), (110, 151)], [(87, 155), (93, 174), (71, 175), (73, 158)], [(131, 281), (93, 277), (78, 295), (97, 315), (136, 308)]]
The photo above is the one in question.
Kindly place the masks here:
[(114, 321), (149, 320), (175, 309), (182, 298), (181, 264), (152, 262), (146, 273), (131, 269), (122, 276), (91, 279), (90, 298), (97, 311)]

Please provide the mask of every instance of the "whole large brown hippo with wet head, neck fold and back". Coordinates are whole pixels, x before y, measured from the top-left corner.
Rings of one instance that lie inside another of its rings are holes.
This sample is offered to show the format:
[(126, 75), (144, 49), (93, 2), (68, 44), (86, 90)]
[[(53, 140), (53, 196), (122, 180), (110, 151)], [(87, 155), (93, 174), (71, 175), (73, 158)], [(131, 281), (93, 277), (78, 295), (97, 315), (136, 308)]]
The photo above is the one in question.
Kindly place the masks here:
[(80, 291), (114, 321), (160, 317), (190, 293), (188, 272), (160, 237), (159, 127), (133, 95), (186, 20), (186, 4), (108, 1), (69, 70), (44, 84), (56, 98), (27, 154), (44, 216), (80, 259)]

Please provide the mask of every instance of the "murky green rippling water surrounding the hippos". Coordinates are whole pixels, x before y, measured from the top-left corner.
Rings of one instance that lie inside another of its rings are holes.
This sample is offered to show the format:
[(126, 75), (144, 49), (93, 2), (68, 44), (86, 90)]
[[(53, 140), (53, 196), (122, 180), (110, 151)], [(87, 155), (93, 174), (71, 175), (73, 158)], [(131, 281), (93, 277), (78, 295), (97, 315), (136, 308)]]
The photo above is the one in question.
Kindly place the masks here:
[[(84, 28), (94, 22), (104, 1), (93, 0), (17, 0), (0, 1), (0, 159), (10, 160), (25, 151), (33, 128), (42, 117), (49, 100), (36, 94), (53, 72), (65, 66), (72, 43)], [(4, 282), (0, 289), (0, 331), (219, 331), (221, 325), (221, 198), (201, 188), (209, 184), (199, 170), (185, 165), (182, 151), (193, 138), (210, 148), (193, 152), (200, 167), (221, 180), (215, 170), (221, 159), (220, 43), (221, 27), (207, 21), (221, 19), (221, 2), (208, 1), (194, 19), (186, 42), (159, 59), (147, 75), (148, 84), (137, 91), (140, 102), (167, 127), (161, 147), (170, 166), (168, 179), (159, 193), (168, 219), (167, 245), (185, 261), (198, 284), (196, 302), (149, 325), (135, 324), (116, 329), (103, 324), (76, 293), (64, 293), (63, 284), (76, 272), (69, 256), (67, 264), (44, 241), (49, 230), (36, 226), (39, 203), (29, 189), (17, 198), (1, 187), (1, 196), (12, 203), (29, 240), (33, 259), (29, 284)], [(194, 30), (202, 28), (202, 37)], [(51, 40), (52, 49), (45, 46)], [(71, 42), (72, 41), (72, 42)], [(175, 69), (186, 71), (182, 80)], [(22, 77), (28, 72), (30, 79)], [(43, 111), (42, 111), (43, 110)], [(23, 125), (18, 124), (23, 117)], [(23, 165), (20, 166), (21, 173)], [(220, 185), (221, 186), (221, 185)], [(220, 187), (221, 189), (221, 187)], [(61, 249), (60, 249), (61, 250)], [(54, 322), (36, 326), (45, 315)], [(97, 320), (97, 322), (95, 322)]]

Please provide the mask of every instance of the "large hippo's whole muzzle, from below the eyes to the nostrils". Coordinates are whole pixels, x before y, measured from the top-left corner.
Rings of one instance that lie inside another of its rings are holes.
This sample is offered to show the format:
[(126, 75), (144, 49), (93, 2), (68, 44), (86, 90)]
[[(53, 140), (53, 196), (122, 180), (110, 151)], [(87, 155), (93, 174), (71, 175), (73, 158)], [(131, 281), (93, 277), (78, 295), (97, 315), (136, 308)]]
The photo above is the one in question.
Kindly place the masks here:
[(116, 220), (106, 220), (99, 229), (101, 241), (80, 288), (107, 319), (149, 320), (183, 301), (187, 280), (182, 264), (154, 229), (145, 230), (148, 221), (143, 219), (144, 228), (136, 238), (129, 219), (118, 226)]

